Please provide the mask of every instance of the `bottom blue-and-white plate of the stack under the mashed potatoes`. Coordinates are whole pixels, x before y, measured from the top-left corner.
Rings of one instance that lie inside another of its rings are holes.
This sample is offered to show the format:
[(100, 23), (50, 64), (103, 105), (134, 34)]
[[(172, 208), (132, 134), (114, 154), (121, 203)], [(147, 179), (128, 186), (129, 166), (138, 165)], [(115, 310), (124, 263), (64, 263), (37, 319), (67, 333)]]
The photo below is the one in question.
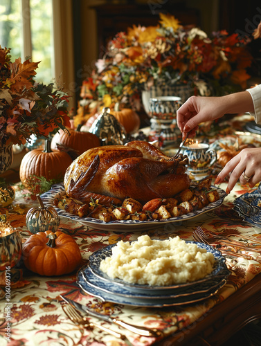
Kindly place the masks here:
[(159, 308), (201, 302), (202, 300), (205, 300), (215, 295), (219, 291), (219, 289), (221, 289), (226, 284), (226, 280), (222, 280), (218, 286), (214, 287), (213, 289), (210, 289), (210, 291), (208, 291), (207, 293), (198, 293), (194, 295), (186, 295), (177, 298), (161, 297), (159, 299), (136, 298), (134, 295), (126, 296), (118, 295), (107, 291), (102, 291), (101, 289), (97, 288), (96, 286), (90, 285), (86, 280), (84, 280), (82, 271), (78, 272), (77, 284), (85, 293), (102, 300), (102, 302), (113, 302), (116, 304), (132, 305), (136, 307)]

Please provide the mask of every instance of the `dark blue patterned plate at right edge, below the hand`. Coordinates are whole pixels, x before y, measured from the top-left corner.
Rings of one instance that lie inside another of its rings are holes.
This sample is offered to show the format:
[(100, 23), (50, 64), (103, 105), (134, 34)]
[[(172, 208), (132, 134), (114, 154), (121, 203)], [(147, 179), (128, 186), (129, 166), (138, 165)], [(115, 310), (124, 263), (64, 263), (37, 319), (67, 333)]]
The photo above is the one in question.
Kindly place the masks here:
[(253, 192), (236, 198), (233, 205), (234, 210), (243, 217), (244, 221), (261, 228), (261, 183)]

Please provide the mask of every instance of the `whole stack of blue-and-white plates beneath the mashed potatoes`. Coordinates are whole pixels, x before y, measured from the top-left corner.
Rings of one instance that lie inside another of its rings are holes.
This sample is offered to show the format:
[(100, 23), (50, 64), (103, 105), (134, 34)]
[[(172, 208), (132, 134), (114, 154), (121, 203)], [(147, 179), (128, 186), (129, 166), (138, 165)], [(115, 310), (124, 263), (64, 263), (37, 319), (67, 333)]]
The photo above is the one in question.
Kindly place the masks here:
[(89, 257), (89, 264), (78, 272), (78, 284), (84, 292), (102, 301), (138, 307), (168, 307), (200, 302), (217, 293), (226, 284), (231, 272), (226, 267), (225, 258), (215, 248), (197, 242), (189, 243), (205, 248), (215, 257), (212, 273), (201, 280), (171, 286), (149, 286), (112, 279), (100, 271), (100, 262), (111, 256), (111, 248), (116, 245), (113, 244)]

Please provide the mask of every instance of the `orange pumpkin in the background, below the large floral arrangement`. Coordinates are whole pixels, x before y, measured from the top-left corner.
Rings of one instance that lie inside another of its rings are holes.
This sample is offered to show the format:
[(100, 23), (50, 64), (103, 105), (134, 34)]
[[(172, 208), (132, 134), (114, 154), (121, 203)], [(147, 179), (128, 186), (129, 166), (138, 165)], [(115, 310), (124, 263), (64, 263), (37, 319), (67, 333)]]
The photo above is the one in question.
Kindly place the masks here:
[(123, 108), (120, 110), (120, 104), (116, 103), (114, 111), (111, 111), (111, 114), (123, 125), (127, 134), (134, 134), (140, 128), (141, 119), (136, 111), (132, 109)]

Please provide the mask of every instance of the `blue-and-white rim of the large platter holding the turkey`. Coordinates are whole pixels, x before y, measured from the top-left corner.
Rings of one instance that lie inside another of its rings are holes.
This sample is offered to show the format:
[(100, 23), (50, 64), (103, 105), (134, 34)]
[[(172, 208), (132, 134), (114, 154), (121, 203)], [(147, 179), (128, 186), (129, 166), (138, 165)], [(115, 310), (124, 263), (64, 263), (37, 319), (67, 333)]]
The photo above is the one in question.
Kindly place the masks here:
[(80, 224), (84, 226), (88, 226), (98, 230), (108, 230), (112, 232), (139, 232), (141, 230), (160, 228), (165, 225), (169, 226), (177, 222), (187, 221), (195, 217), (198, 217), (199, 215), (202, 215), (205, 212), (210, 212), (215, 208), (218, 208), (222, 205), (224, 198), (226, 197), (226, 192), (220, 188), (217, 188), (216, 186), (211, 186), (211, 188), (215, 188), (215, 190), (217, 190), (219, 194), (219, 199), (213, 203), (208, 204), (208, 206), (202, 208), (201, 210), (195, 210), (193, 212), (189, 212), (186, 215), (181, 215), (180, 217), (171, 217), (170, 219), (148, 221), (116, 220), (105, 222), (98, 219), (94, 219), (93, 217), (78, 217), (77, 215), (73, 215), (69, 212), (66, 212), (65, 210), (57, 208), (54, 206), (53, 201), (55, 200), (55, 198), (60, 198), (62, 195), (66, 193), (63, 183), (54, 184), (51, 190), (41, 195), (41, 199), (44, 202), (45, 206), (55, 207), (60, 217), (66, 217), (73, 221), (78, 221), (80, 222)]

